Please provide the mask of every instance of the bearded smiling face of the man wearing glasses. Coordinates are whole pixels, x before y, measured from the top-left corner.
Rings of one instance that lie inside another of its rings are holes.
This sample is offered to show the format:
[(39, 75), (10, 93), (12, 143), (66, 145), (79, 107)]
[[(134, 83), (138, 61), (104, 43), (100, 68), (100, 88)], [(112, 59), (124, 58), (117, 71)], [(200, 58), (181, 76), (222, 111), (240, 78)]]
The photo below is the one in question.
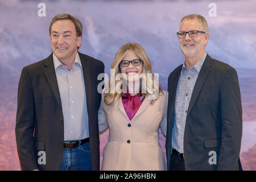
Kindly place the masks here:
[[(180, 31), (191, 31), (191, 30), (203, 30), (200, 26), (200, 22), (197, 19), (184, 19), (180, 23)], [(189, 37), (187, 34), (184, 39), (179, 39), (180, 49), (185, 55), (185, 57), (200, 57), (205, 53), (205, 46), (209, 40), (209, 33), (205, 34), (198, 33), (195, 38)]]

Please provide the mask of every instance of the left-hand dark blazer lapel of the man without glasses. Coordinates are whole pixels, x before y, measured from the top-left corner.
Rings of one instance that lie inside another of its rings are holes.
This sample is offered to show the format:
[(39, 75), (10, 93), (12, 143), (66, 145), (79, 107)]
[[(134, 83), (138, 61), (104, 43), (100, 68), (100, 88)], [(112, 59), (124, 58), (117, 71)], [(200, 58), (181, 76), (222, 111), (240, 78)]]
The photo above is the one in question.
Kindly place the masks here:
[(44, 68), (44, 75), (46, 75), (47, 81), (49, 82), (52, 92), (58, 104), (61, 107), (60, 92), (59, 92), (59, 86), (57, 84), (57, 78), (56, 78), (55, 69), (53, 65), (52, 53), (47, 57), (44, 63), (44, 66), (46, 67)]

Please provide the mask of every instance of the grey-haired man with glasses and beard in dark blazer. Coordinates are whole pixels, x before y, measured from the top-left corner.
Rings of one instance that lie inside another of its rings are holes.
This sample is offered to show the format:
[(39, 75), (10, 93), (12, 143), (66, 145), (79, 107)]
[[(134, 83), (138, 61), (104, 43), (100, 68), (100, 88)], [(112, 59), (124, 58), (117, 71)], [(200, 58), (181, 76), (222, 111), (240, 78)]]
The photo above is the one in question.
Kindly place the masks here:
[(208, 25), (187, 15), (177, 32), (183, 65), (168, 77), (168, 170), (238, 170), (242, 106), (237, 72), (205, 53)]

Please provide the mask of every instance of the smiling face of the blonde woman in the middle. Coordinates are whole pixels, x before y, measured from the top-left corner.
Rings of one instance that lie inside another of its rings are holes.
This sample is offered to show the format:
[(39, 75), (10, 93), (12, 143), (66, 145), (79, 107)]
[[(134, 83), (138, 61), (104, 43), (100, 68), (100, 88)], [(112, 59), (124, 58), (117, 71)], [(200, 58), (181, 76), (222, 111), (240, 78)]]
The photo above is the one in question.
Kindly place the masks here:
[[(140, 59), (140, 57), (138, 57), (133, 51), (128, 50), (122, 60), (131, 61), (134, 59)], [(124, 74), (123, 78), (125, 78), (127, 82), (137, 81), (139, 79), (139, 75), (141, 75), (142, 73), (143, 64), (141, 63), (136, 67), (130, 63), (128, 67), (122, 67), (122, 66), (120, 67), (121, 67), (121, 73)]]

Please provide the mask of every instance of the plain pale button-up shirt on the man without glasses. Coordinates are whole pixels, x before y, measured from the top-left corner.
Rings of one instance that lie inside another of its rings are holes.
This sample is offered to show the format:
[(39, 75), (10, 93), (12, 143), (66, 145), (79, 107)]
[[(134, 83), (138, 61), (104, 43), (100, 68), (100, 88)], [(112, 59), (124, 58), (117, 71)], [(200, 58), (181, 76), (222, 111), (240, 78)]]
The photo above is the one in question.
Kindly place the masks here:
[(64, 141), (89, 137), (88, 112), (82, 64), (77, 53), (72, 69), (61, 63), (53, 53), (57, 83), (64, 117)]

